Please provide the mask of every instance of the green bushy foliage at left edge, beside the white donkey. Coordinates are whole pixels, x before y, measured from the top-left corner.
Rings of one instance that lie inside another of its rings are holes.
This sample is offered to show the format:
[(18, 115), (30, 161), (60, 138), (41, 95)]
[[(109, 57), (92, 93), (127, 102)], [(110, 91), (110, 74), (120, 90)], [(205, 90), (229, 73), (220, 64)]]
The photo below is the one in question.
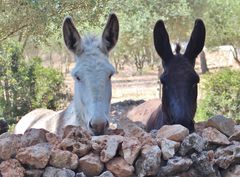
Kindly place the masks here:
[(58, 108), (63, 76), (45, 68), (40, 58), (28, 62), (16, 42), (0, 46), (0, 117), (14, 123), (38, 107)]

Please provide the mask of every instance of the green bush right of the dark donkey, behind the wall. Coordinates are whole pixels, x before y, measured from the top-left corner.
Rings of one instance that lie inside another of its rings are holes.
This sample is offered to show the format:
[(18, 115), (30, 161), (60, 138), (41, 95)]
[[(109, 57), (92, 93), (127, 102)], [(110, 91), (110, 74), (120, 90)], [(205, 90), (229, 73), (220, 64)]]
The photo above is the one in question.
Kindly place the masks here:
[(196, 120), (222, 114), (240, 119), (240, 71), (221, 69), (202, 78), (203, 99), (198, 104)]

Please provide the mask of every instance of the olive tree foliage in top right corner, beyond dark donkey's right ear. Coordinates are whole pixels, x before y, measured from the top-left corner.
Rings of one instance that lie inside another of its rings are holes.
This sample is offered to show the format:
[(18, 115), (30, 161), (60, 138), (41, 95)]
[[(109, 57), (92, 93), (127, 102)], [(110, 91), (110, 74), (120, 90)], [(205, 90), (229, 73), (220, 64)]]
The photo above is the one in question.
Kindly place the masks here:
[(214, 47), (231, 45), (233, 58), (240, 66), (238, 48), (240, 47), (240, 1), (216, 0), (207, 2), (204, 13), (207, 24), (208, 40), (206, 45)]

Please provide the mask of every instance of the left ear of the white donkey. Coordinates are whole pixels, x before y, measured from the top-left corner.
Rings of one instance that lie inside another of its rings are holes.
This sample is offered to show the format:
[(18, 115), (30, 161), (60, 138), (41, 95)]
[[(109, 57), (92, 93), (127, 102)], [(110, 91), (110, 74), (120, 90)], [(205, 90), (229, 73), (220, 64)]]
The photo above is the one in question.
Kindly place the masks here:
[(66, 17), (63, 21), (63, 38), (67, 48), (74, 54), (81, 52), (81, 37), (72, 22), (71, 17)]

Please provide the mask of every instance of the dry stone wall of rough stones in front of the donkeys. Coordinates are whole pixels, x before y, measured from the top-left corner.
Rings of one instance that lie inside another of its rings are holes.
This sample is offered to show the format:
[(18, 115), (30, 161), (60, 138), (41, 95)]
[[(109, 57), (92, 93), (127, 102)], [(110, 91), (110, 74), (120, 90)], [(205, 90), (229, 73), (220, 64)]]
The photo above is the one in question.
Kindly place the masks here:
[(43, 129), (0, 135), (2, 177), (239, 177), (240, 125), (215, 116), (189, 134), (181, 125), (145, 132), (123, 129), (91, 136), (67, 126), (59, 137)]

